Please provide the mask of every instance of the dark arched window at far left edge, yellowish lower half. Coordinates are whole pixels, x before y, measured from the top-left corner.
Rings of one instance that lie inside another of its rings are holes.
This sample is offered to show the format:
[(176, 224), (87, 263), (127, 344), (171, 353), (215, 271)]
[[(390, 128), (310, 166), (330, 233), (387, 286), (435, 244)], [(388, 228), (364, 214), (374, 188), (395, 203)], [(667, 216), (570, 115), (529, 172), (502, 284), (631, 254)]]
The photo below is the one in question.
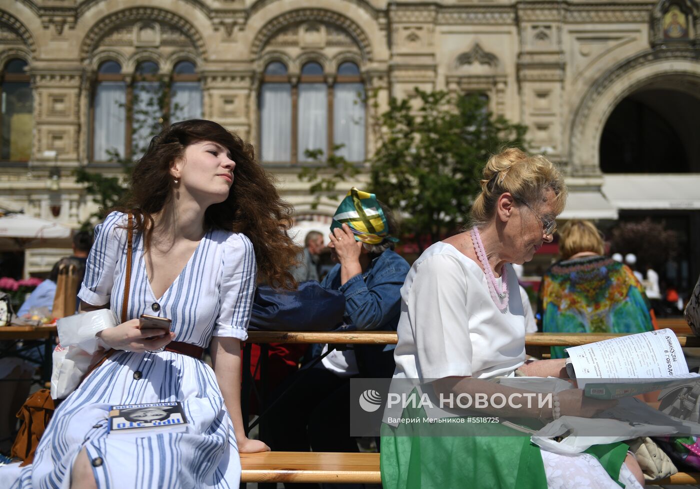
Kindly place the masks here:
[(34, 97), (24, 59), (10, 59), (0, 72), (2, 111), (0, 160), (25, 162), (31, 158)]

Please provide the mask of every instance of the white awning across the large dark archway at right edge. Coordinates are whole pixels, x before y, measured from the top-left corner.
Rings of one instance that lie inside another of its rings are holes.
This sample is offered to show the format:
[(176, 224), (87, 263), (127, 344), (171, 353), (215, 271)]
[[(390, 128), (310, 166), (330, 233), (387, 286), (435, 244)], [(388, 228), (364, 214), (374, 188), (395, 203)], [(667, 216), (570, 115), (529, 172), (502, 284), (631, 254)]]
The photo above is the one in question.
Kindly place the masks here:
[(700, 175), (605, 175), (603, 194), (618, 209), (700, 209)]

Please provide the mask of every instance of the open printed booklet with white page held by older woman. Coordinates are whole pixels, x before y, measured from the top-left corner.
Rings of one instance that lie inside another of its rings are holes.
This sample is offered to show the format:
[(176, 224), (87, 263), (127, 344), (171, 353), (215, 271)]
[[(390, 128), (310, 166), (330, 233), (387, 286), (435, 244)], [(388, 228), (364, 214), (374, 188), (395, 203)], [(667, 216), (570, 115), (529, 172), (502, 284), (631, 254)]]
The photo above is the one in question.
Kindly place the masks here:
[(700, 380), (700, 374), (688, 371), (671, 329), (573, 346), (566, 353), (569, 376), (576, 378), (584, 395), (596, 399), (629, 397)]

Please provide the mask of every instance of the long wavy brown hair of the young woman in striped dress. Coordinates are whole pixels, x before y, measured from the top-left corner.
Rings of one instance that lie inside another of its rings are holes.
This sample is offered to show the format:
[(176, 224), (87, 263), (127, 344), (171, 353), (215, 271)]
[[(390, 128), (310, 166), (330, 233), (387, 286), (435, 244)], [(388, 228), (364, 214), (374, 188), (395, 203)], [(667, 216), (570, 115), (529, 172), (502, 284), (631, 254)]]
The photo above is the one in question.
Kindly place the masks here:
[(245, 234), (253, 243), (258, 272), (267, 283), (274, 288), (296, 288), (289, 272), (300, 250), (288, 234), (293, 207), (279, 197), (274, 178), (255, 162), (253, 146), (216, 122), (184, 120), (155, 136), (134, 167), (130, 197), (118, 210), (134, 214), (134, 230), (144, 233), (148, 248), (153, 216), (173, 199), (171, 165), (183, 157), (187, 146), (200, 141), (221, 144), (236, 162), (228, 197), (207, 208), (204, 228)]

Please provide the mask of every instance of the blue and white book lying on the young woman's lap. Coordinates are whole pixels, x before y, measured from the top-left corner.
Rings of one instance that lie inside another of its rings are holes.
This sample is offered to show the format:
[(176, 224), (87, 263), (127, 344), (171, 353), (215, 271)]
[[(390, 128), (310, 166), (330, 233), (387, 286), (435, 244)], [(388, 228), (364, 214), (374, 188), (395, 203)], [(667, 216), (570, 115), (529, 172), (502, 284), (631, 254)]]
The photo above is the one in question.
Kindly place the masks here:
[(183, 432), (187, 419), (180, 402), (153, 402), (151, 404), (123, 404), (111, 406), (110, 434), (146, 436), (158, 432)]

